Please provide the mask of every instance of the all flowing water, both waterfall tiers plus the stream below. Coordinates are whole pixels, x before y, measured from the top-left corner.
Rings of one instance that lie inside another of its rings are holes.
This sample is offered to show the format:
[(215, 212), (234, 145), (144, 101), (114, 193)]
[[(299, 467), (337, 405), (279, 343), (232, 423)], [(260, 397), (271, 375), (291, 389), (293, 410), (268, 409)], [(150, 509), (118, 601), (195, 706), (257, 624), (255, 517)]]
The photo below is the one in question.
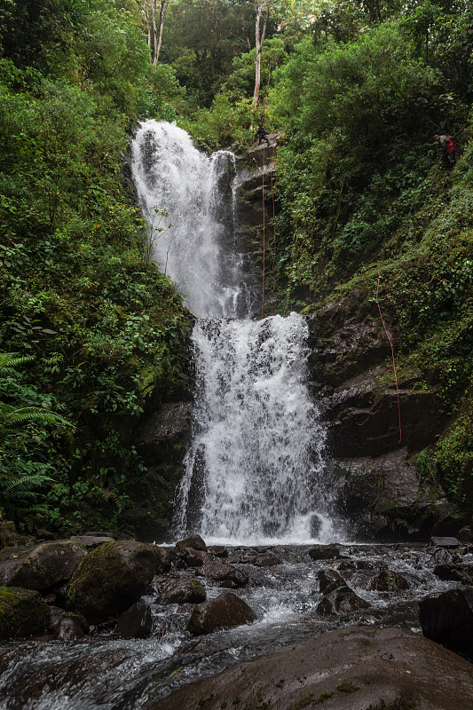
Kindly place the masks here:
[[(338, 626), (419, 631), (417, 601), (457, 584), (438, 580), (426, 546), (343, 543), (330, 506), (325, 434), (307, 384), (306, 323), (295, 313), (252, 318), (257, 284), (239, 241), (233, 154), (208, 157), (176, 126), (144, 122), (133, 144), (133, 171), (150, 224), (148, 254), (197, 316), (193, 437), (177, 495), (176, 536), (199, 531), (208, 542), (225, 542), (219, 554), (248, 575), (237, 594), (257, 620), (194, 638), (185, 628), (192, 605), (156, 604), (163, 583), (157, 578), (146, 596), (154, 620), (146, 640), (117, 639), (112, 624), (79, 643), (0, 646), (0, 710), (155, 708), (182, 683)], [(315, 541), (334, 540), (343, 543), (340, 559), (308, 555)], [(369, 606), (319, 613), (317, 574), (327, 568), (337, 569)], [(374, 590), (374, 578), (386, 571), (389, 580), (402, 575), (402, 588)], [(176, 566), (167, 579), (194, 574)], [(199, 580), (209, 599), (221, 593), (217, 582)]]

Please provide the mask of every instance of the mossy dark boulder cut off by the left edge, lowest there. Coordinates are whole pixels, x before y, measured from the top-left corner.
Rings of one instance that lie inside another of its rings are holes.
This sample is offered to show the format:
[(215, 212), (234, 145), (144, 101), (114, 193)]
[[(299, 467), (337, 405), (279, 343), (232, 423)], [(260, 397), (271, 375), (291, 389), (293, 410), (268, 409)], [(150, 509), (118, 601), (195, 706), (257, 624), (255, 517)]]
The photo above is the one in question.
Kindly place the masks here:
[(0, 587), (0, 640), (43, 634), (50, 624), (50, 609), (31, 589)]

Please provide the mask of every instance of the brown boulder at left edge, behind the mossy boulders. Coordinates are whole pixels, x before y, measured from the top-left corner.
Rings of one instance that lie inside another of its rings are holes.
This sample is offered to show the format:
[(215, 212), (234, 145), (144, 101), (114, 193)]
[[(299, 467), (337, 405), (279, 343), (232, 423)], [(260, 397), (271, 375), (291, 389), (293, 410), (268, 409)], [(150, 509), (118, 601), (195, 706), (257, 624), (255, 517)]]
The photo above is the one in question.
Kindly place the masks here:
[(42, 542), (25, 555), (4, 560), (0, 578), (7, 587), (42, 591), (66, 582), (87, 556), (87, 549), (75, 540)]

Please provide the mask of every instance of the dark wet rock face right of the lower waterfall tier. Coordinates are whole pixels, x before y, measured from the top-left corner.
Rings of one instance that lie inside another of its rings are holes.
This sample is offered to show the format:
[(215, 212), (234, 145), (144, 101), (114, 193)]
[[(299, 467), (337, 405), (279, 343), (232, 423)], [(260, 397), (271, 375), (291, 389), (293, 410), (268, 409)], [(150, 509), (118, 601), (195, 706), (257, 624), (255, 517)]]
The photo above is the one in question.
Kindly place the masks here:
[[(397, 329), (385, 315), (396, 345)], [(416, 386), (416, 373), (399, 379), (401, 435), (390, 343), (376, 304), (354, 290), (332, 298), (309, 322), (312, 379), (335, 457), (335, 509), (355, 536), (369, 540), (446, 532), (455, 523), (445, 493), (438, 482), (421, 481), (415, 468), (416, 454), (436, 443), (447, 422), (437, 391)]]

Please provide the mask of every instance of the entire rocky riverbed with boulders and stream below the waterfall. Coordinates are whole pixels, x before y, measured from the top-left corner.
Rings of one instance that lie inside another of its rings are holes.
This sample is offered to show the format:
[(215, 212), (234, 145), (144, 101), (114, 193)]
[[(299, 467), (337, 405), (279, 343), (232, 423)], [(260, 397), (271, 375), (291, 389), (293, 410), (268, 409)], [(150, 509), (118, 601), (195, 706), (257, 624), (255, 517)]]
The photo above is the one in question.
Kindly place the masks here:
[[(29, 640), (28, 627), (2, 627), (4, 710), (473, 706), (471, 543), (207, 548), (193, 537), (162, 548), (104, 538), (1, 551), (2, 619), (16, 595), (44, 612)], [(424, 638), (420, 608), (425, 632), (451, 648), (460, 638), (463, 658)], [(238, 668), (259, 692), (238, 685)]]

